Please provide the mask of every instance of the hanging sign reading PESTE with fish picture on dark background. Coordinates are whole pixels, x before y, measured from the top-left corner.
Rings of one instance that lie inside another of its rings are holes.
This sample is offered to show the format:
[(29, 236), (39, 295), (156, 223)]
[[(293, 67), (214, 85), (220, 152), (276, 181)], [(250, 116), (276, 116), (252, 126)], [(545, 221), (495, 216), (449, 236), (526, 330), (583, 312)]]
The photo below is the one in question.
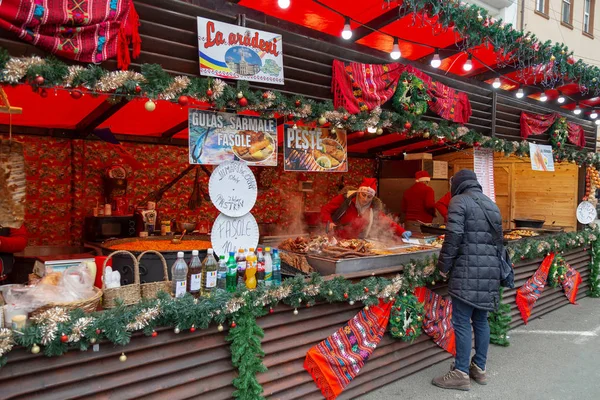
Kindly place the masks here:
[(284, 133), (286, 171), (348, 172), (345, 131), (286, 125)]

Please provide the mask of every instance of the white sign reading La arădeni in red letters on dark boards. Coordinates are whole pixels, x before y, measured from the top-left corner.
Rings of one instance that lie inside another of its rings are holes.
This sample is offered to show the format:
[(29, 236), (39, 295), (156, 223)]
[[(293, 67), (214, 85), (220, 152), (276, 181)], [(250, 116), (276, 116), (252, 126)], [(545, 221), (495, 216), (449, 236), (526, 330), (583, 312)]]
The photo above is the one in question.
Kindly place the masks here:
[(282, 36), (198, 17), (200, 74), (283, 85)]

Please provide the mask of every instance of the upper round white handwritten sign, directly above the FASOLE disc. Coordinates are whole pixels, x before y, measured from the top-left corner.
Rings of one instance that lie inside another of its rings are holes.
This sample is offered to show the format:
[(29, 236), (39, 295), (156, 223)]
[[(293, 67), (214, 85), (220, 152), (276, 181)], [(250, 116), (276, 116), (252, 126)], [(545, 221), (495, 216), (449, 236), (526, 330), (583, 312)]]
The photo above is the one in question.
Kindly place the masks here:
[(241, 217), (256, 203), (256, 178), (246, 164), (228, 161), (210, 175), (208, 194), (217, 210), (230, 217)]

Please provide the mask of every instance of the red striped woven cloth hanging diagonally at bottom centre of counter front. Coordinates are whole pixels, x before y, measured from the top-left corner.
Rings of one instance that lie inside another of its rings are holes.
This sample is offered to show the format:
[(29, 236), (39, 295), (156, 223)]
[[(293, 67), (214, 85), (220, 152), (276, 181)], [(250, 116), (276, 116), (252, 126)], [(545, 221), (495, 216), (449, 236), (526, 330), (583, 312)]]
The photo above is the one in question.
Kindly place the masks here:
[(350, 383), (381, 341), (393, 302), (361, 310), (336, 333), (306, 353), (304, 369), (327, 400), (335, 399)]

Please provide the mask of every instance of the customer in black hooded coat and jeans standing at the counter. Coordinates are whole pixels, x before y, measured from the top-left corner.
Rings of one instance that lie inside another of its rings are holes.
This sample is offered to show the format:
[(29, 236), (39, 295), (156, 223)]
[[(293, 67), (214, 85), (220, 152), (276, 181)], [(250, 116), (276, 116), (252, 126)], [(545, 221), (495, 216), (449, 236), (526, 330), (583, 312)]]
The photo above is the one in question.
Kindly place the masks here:
[[(450, 372), (434, 378), (432, 383), (446, 389), (469, 390), (469, 377), (477, 383), (487, 383), (488, 311), (498, 307), (500, 297), (501, 266), (496, 247), (499, 233), (495, 233), (494, 228), (502, 232), (502, 217), (498, 206), (483, 194), (477, 176), (471, 170), (461, 170), (452, 177), (451, 193), (447, 232), (437, 267), (449, 276), (456, 357)], [(469, 362), (471, 321), (475, 332), (475, 356)]]

